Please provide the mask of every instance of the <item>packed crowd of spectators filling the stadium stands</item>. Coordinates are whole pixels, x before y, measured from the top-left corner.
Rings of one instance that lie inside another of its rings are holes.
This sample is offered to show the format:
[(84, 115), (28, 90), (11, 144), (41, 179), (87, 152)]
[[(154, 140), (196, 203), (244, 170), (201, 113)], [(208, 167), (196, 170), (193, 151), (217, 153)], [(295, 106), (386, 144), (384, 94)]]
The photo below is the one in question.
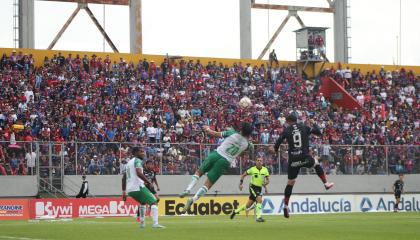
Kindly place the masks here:
[[(312, 143), (319, 146), (314, 149), (318, 155), (328, 156), (322, 159), (330, 174), (385, 173), (385, 153), (391, 171), (419, 169), (420, 81), (405, 69), (363, 74), (356, 69), (349, 73), (349, 68), (339, 65), (326, 70), (324, 75), (336, 79), (363, 106), (349, 111), (333, 107), (318, 94), (320, 81), (302, 79), (291, 65), (227, 66), (184, 59), (127, 62), (61, 53), (45, 57), (41, 65), (35, 67), (32, 55), (22, 52), (0, 59), (3, 175), (33, 172), (28, 171), (33, 146), (16, 141), (53, 142), (52, 152), (64, 154), (66, 174), (118, 174), (130, 144), (148, 146), (148, 158), (158, 172), (191, 174), (223, 140), (208, 138), (203, 125), (220, 131), (249, 121), (255, 129), (253, 142), (270, 144), (292, 112), (302, 122), (319, 123), (324, 134)], [(251, 110), (238, 108), (242, 96), (252, 99)], [(349, 150), (337, 144), (412, 147)], [(47, 155), (48, 145), (39, 152)], [(272, 173), (285, 171), (285, 150), (279, 160), (263, 147), (256, 154), (265, 157)], [(243, 157), (232, 171), (239, 173), (239, 165), (246, 168), (251, 159)], [(49, 161), (40, 156), (41, 167), (51, 165)], [(55, 166), (62, 164), (59, 158), (52, 161)], [(50, 169), (42, 169), (42, 174), (49, 174)]]

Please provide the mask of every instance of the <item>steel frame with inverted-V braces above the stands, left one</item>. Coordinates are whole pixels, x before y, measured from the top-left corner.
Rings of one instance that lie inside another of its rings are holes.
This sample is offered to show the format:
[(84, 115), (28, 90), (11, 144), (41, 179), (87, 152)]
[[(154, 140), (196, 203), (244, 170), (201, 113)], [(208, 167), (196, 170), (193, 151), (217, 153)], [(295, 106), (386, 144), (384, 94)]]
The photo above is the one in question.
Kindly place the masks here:
[[(34, 48), (34, 1), (35, 0), (19, 0), (19, 47), (20, 48)], [(96, 4), (108, 4), (108, 5), (125, 5), (129, 6), (130, 14), (130, 52), (131, 53), (142, 53), (142, 20), (141, 20), (141, 0), (39, 0), (39, 1), (56, 1), (56, 2), (72, 2), (77, 3), (76, 9), (70, 15), (69, 19), (63, 25), (61, 30), (57, 33), (54, 40), (48, 46), (48, 49), (53, 49), (54, 45), (66, 31), (67, 27), (76, 17), (80, 10), (85, 10), (89, 17), (92, 19), (95, 26), (104, 36), (110, 47), (114, 52), (118, 52), (117, 47), (108, 36), (103, 26), (96, 19), (94, 14), (89, 8), (90, 3)]]

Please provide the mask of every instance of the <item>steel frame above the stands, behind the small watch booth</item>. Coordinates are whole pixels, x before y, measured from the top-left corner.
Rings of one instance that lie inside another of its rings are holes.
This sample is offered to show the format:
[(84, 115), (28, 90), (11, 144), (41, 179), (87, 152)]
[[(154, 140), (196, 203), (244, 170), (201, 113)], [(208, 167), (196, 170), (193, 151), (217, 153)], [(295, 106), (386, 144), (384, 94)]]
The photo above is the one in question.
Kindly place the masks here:
[(308, 7), (308, 6), (291, 6), (291, 5), (276, 5), (276, 4), (261, 4), (256, 3), (255, 0), (239, 0), (239, 18), (240, 18), (240, 49), (241, 58), (252, 57), (251, 47), (251, 9), (272, 9), (272, 10), (286, 10), (288, 15), (277, 28), (276, 32), (264, 47), (258, 59), (262, 59), (274, 40), (280, 34), (286, 23), (291, 17), (295, 17), (302, 28), (306, 27), (299, 16), (299, 12), (318, 12), (318, 13), (333, 13), (334, 14), (334, 60), (336, 62), (347, 63), (350, 59), (350, 17), (348, 0), (327, 0), (329, 7)]

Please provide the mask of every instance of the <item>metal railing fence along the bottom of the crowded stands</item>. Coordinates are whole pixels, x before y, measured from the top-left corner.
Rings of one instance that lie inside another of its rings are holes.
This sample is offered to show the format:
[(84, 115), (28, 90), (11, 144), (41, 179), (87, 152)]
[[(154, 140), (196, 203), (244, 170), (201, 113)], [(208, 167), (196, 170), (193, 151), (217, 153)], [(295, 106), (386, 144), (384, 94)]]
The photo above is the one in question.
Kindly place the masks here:
[[(10, 146), (8, 142), (0, 142), (0, 145), (5, 153), (0, 174), (38, 175), (62, 190), (64, 175), (120, 174), (122, 166), (131, 157), (130, 147), (138, 144), (18, 142), (17, 146)], [(146, 159), (153, 161), (155, 171), (163, 175), (193, 174), (217, 147), (198, 143), (147, 143), (143, 146)], [(286, 174), (287, 146), (282, 145), (276, 155), (269, 153), (269, 146), (256, 144), (254, 155), (245, 153), (232, 162), (228, 174), (241, 174), (254, 164), (256, 156), (263, 157), (271, 174)], [(32, 152), (35, 163), (27, 158)], [(314, 147), (313, 154), (319, 157), (327, 174), (420, 173), (420, 146), (416, 145), (319, 145)], [(302, 173), (309, 174), (311, 170), (302, 170)]]

